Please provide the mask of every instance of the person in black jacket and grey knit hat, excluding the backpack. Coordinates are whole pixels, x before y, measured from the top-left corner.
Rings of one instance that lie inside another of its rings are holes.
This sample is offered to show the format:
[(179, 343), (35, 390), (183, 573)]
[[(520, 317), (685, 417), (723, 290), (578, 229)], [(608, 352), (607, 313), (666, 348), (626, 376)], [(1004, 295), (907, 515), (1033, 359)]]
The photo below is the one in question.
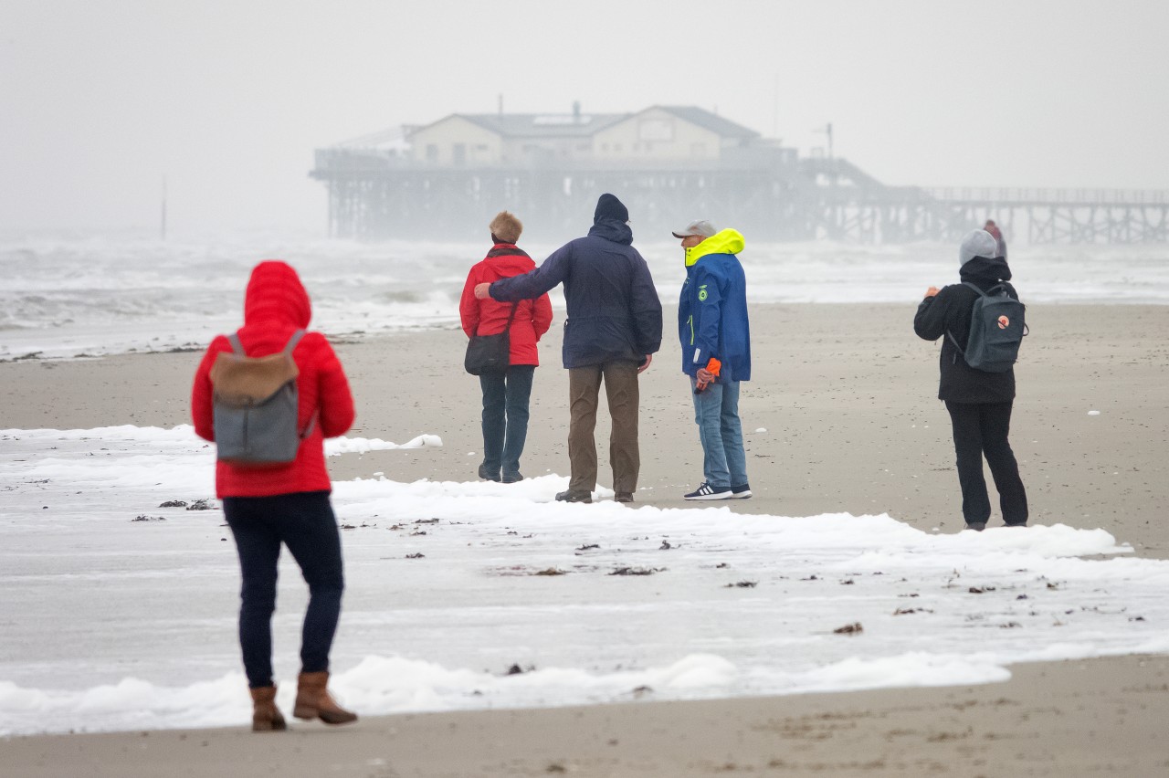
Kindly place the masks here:
[(938, 397), (946, 403), (954, 431), (957, 454), (957, 478), (962, 487), (962, 515), (970, 529), (982, 530), (990, 519), (990, 499), (982, 474), (982, 458), (998, 489), (1003, 521), (1009, 527), (1025, 527), (1026, 491), (1019, 478), (1018, 463), (1007, 437), (1015, 402), (1015, 370), (984, 373), (966, 363), (962, 354), (970, 335), (970, 317), (978, 293), (964, 284), (973, 283), (983, 292), (1002, 285), (1018, 299), (1009, 283), (1011, 270), (1007, 259), (997, 256), (995, 237), (985, 230), (974, 230), (959, 249), (962, 263), (961, 284), (939, 290), (931, 286), (918, 306), (913, 331), (925, 340), (943, 338), (939, 363), (941, 381)]

